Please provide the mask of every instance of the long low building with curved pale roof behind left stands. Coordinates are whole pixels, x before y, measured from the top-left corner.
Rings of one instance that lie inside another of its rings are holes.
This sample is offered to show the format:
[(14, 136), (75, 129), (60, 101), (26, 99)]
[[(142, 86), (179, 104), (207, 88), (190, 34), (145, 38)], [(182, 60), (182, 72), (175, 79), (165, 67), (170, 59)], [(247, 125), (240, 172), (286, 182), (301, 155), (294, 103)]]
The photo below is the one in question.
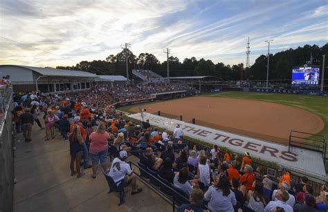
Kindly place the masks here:
[(90, 90), (93, 73), (78, 70), (1, 65), (0, 77), (10, 76), (14, 92), (41, 90), (42, 93), (66, 93)]

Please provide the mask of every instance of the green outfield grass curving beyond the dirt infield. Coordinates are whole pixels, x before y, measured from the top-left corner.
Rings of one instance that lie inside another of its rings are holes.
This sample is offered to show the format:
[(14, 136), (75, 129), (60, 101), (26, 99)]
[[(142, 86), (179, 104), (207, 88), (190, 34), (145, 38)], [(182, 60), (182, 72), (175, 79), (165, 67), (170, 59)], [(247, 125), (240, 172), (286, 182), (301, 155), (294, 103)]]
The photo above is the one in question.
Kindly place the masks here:
[(295, 106), (304, 110), (309, 110), (311, 113), (319, 115), (325, 122), (325, 128), (320, 131), (320, 135), (328, 135), (328, 98), (310, 95), (295, 95), (282, 93), (257, 93), (257, 92), (240, 92), (230, 91), (210, 95), (210, 97), (229, 97), (240, 99), (254, 99), (265, 102), (275, 102)]

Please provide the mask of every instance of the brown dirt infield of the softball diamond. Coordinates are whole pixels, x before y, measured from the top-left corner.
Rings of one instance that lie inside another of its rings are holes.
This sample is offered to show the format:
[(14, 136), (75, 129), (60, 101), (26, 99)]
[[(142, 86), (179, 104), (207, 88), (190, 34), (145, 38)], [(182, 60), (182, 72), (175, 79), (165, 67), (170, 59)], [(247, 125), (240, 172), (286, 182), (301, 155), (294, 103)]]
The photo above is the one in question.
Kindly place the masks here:
[[(288, 145), (290, 131), (319, 133), (322, 119), (307, 110), (249, 99), (190, 97), (143, 105), (147, 113), (182, 115), (184, 122)], [(139, 106), (130, 109), (139, 113)]]

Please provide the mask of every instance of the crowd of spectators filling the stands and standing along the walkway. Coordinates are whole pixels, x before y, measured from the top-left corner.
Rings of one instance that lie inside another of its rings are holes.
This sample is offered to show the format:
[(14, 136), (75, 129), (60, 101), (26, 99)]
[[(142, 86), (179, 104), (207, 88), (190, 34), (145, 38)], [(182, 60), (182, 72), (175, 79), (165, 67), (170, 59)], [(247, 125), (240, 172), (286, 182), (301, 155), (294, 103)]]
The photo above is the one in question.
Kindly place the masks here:
[[(16, 95), (12, 113), (17, 133), (23, 130), (26, 142), (30, 142), (33, 122), (43, 115), (44, 123), (39, 121), (37, 124), (40, 131), (46, 128), (45, 141), (56, 136), (55, 128), (59, 129), (63, 140), (69, 140), (71, 161), (68, 166), (72, 176), (83, 177), (81, 167), (92, 167), (91, 177), (95, 179), (100, 164), (102, 172), (113, 182), (131, 182), (132, 195), (142, 191), (136, 184), (134, 170), (125, 162), (129, 154), (134, 154), (140, 158), (140, 164), (166, 180), (179, 193), (190, 197), (190, 204), (181, 205), (178, 211), (202, 211), (205, 207), (210, 211), (327, 209), (328, 185), (322, 186), (320, 196), (316, 198), (307, 177), (295, 184), (289, 171), (284, 169), (277, 179), (277, 188), (273, 189), (273, 179), (264, 175), (262, 168), (253, 170), (253, 160), (248, 152), (240, 158), (216, 145), (211, 150), (197, 145), (188, 149), (179, 125), (171, 136), (167, 131), (153, 128), (148, 120), (134, 124), (115, 108), (108, 107), (120, 100), (113, 99), (114, 93), (133, 93), (134, 89), (120, 85), (62, 96)], [(115, 157), (111, 168), (108, 166), (109, 154)]]

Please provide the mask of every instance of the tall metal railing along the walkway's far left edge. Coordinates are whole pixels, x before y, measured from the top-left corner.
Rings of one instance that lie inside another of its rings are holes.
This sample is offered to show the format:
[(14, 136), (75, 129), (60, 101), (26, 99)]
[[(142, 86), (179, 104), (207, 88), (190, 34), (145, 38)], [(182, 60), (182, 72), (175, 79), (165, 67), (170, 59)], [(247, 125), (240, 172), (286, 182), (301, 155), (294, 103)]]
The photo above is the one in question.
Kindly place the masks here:
[(14, 152), (12, 88), (0, 87), (0, 211), (12, 211)]

